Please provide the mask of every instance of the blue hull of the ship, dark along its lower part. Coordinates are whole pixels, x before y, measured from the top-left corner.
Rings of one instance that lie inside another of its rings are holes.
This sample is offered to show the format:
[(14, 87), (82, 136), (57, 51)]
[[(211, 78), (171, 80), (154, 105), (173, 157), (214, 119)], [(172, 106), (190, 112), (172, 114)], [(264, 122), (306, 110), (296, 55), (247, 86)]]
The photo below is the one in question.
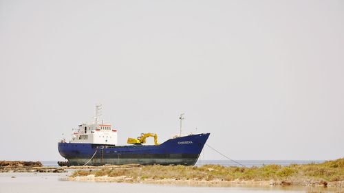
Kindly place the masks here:
[(195, 165), (210, 133), (169, 139), (159, 146), (109, 146), (103, 144), (58, 143), (58, 152), (69, 166), (105, 164)]

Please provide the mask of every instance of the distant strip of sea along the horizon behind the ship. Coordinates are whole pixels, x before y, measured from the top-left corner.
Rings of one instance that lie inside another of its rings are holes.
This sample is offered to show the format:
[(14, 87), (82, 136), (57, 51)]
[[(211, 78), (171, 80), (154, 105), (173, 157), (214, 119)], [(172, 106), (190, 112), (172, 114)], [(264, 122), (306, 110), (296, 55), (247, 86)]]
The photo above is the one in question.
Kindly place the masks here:
[[(236, 160), (244, 166), (263, 166), (268, 164), (277, 164), (281, 166), (287, 166), (292, 163), (305, 164), (305, 163), (321, 163), (323, 160)], [(42, 161), (44, 166), (58, 166), (57, 161)], [(196, 166), (202, 166), (204, 164), (219, 164), (222, 166), (239, 166), (233, 161), (227, 160), (198, 160)]]

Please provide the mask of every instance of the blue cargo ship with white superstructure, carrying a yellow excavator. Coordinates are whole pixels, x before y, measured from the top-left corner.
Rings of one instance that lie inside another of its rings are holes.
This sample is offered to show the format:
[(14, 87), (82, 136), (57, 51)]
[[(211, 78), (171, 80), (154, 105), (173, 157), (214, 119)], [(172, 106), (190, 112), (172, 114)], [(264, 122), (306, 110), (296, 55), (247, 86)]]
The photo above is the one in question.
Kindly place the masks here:
[[(58, 152), (67, 159), (67, 166), (123, 165), (195, 165), (210, 133), (175, 136), (158, 144), (158, 135), (142, 133), (137, 138), (128, 138), (129, 145), (118, 146), (116, 128), (100, 122), (101, 105), (96, 105), (94, 122), (78, 125), (72, 139), (58, 142)], [(180, 117), (182, 121), (182, 117)], [(154, 145), (144, 145), (147, 137), (154, 137)]]

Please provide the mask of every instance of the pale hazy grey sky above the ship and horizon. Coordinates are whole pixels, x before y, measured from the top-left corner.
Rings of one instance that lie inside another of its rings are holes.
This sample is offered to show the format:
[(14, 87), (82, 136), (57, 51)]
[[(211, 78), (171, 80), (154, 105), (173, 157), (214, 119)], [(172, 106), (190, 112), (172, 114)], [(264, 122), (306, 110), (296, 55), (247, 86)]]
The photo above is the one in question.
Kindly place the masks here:
[(344, 1), (0, 0), (0, 159), (63, 160), (96, 103), (120, 144), (185, 113), (232, 159), (336, 159), (343, 74)]

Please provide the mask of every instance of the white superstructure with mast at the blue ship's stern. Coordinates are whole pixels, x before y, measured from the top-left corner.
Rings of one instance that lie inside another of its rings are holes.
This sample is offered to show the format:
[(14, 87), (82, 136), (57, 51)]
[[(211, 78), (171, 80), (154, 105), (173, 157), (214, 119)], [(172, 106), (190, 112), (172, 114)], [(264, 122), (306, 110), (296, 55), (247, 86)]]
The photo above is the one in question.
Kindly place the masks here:
[(72, 134), (71, 143), (117, 145), (117, 130), (111, 124), (99, 123), (101, 105), (96, 105), (96, 116), (91, 124), (80, 124)]

